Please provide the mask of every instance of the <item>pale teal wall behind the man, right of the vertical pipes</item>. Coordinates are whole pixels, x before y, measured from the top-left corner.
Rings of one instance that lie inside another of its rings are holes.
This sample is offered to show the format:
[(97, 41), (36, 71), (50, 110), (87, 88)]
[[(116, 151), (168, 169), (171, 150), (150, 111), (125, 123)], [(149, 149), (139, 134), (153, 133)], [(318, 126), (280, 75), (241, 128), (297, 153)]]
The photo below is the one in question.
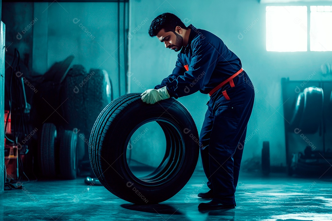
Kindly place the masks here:
[[(239, 56), (244, 70), (254, 83), (256, 99), (242, 162), (255, 156), (260, 157), (262, 143), (268, 140), (271, 164), (285, 165), (281, 78), (305, 80), (315, 72), (313, 80), (331, 80), (331, 76), (323, 77), (321, 74), (321, 66), (332, 61), (331, 52), (266, 51), (267, 5), (259, 4), (256, 0), (132, 0), (131, 3), (131, 91), (141, 92), (153, 88), (172, 72), (177, 53), (166, 49), (157, 38), (149, 37), (148, 28), (159, 14), (174, 13), (187, 25), (192, 23), (197, 28), (219, 36)], [(179, 98), (193, 115), (199, 131), (208, 99), (208, 95), (200, 92)]]

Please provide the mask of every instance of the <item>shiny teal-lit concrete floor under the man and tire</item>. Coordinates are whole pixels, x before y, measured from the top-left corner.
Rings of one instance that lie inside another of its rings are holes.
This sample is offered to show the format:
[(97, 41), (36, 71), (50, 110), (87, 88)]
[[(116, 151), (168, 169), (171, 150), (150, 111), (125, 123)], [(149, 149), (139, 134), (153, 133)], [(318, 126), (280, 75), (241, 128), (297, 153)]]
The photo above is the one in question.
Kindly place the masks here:
[(240, 175), (235, 209), (200, 212), (203, 171), (174, 197), (157, 205), (128, 203), (83, 178), (26, 183), (0, 195), (0, 220), (332, 220), (332, 179)]

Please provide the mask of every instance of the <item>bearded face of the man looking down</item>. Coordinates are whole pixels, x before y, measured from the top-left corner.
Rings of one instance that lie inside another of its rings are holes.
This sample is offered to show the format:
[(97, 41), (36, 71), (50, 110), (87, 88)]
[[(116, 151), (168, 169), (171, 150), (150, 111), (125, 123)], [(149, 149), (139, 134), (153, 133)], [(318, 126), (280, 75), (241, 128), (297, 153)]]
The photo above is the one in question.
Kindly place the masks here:
[(180, 51), (183, 46), (183, 37), (180, 34), (173, 31), (165, 32), (164, 28), (158, 32), (157, 38), (164, 42), (166, 48), (174, 51)]

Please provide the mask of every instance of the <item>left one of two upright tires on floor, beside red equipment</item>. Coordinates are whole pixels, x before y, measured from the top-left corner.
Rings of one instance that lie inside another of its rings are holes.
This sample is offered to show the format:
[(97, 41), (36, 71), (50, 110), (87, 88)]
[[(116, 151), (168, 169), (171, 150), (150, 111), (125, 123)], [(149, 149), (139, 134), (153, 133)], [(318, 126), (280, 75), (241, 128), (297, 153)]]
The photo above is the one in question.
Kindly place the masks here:
[(44, 123), (39, 140), (38, 160), (41, 175), (46, 178), (55, 178), (55, 140), (57, 131), (54, 124)]

